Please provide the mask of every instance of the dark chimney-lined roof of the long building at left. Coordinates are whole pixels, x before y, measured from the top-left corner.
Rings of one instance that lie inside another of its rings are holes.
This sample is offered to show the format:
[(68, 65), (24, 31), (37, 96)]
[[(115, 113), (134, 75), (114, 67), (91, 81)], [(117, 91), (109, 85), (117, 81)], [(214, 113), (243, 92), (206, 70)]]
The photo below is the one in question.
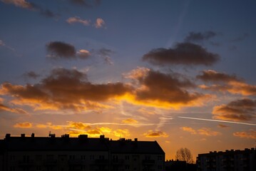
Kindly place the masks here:
[(78, 138), (69, 138), (63, 135), (56, 138), (55, 135), (49, 137), (11, 137), (6, 135), (4, 140), (0, 140), (0, 151), (108, 151), (113, 153), (128, 154), (161, 154), (165, 152), (156, 141), (109, 140), (101, 135), (100, 138), (88, 138), (87, 135), (79, 135)]

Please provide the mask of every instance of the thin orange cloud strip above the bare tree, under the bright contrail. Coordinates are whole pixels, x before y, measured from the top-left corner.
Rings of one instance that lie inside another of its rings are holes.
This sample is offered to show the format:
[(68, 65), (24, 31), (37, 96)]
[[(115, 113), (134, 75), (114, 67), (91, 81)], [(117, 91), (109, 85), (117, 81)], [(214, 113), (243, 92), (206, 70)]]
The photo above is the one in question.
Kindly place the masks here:
[(190, 127), (181, 127), (181, 130), (184, 130), (190, 134), (199, 134), (199, 135), (206, 135), (206, 136), (217, 136), (217, 135), (221, 135), (221, 133), (217, 132), (217, 131), (213, 131), (211, 130), (211, 128), (200, 128), (198, 130), (194, 130), (193, 128)]

